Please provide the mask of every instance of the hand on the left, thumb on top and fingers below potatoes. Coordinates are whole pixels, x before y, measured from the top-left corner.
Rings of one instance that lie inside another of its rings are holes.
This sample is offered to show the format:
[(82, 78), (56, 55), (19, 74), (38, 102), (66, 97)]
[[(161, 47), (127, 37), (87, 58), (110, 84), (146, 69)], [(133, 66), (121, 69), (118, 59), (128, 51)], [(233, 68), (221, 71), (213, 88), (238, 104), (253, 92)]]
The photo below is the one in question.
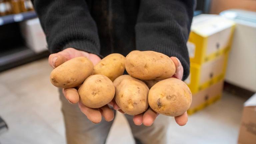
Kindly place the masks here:
[[(51, 67), (55, 68), (64, 63), (67, 60), (70, 60), (75, 57), (84, 56), (92, 61), (95, 65), (101, 59), (95, 54), (87, 53), (84, 51), (76, 50), (74, 48), (67, 48), (61, 52), (51, 54), (49, 56), (48, 62)], [(114, 119), (114, 112), (109, 108), (108, 105), (105, 105), (101, 108), (94, 109), (89, 108), (79, 102), (79, 95), (76, 88), (67, 88), (63, 89), (63, 94), (65, 98), (72, 104), (78, 103), (80, 110), (87, 116), (87, 118), (93, 123), (99, 123), (101, 117), (103, 116), (106, 121), (111, 121)]]

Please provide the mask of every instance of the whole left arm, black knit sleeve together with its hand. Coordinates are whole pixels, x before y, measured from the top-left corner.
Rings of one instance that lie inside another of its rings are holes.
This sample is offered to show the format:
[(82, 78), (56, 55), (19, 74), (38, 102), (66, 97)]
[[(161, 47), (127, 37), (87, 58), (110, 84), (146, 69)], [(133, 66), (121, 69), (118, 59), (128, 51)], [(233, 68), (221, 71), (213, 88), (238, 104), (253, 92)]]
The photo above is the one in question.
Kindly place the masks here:
[[(84, 0), (34, 0), (33, 4), (53, 53), (48, 59), (50, 66), (58, 67), (79, 56), (89, 58), (93, 64), (100, 61), (97, 27)], [(63, 89), (63, 94), (70, 103), (78, 103), (80, 110), (94, 123), (99, 123), (102, 116), (106, 121), (114, 118), (108, 105), (93, 109), (79, 102), (76, 88)]]

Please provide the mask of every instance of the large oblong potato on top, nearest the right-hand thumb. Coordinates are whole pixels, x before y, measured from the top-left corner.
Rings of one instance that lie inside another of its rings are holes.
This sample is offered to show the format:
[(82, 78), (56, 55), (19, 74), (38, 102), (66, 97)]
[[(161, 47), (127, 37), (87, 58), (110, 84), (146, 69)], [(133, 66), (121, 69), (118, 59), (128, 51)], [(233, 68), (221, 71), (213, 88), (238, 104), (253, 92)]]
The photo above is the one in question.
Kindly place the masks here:
[(175, 73), (175, 64), (170, 57), (154, 51), (132, 51), (126, 56), (126, 71), (141, 80), (170, 78)]

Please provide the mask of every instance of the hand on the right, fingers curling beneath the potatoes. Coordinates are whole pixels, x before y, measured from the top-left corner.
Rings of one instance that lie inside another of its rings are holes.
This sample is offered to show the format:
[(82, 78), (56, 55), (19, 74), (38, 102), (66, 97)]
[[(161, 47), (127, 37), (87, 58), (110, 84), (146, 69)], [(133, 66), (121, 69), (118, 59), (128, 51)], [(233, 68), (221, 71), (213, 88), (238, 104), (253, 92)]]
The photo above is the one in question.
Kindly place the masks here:
[[(176, 72), (173, 75), (173, 77), (181, 80), (182, 76), (183, 76), (183, 67), (181, 65), (181, 62), (176, 57), (171, 57), (171, 59), (173, 60), (175, 67), (176, 67)], [(115, 110), (119, 110), (120, 112), (124, 113), (122, 110), (120, 110), (120, 108), (118, 107), (118, 105), (116, 103), (113, 102), (112, 104), (113, 104), (113, 108)], [(153, 111), (149, 107), (144, 113), (135, 115), (133, 117), (133, 122), (136, 125), (141, 125), (143, 123), (145, 126), (151, 126), (158, 115), (159, 115), (159, 113)], [(184, 114), (182, 114), (180, 116), (176, 116), (175, 121), (180, 126), (185, 125), (188, 121), (187, 112), (185, 112)]]

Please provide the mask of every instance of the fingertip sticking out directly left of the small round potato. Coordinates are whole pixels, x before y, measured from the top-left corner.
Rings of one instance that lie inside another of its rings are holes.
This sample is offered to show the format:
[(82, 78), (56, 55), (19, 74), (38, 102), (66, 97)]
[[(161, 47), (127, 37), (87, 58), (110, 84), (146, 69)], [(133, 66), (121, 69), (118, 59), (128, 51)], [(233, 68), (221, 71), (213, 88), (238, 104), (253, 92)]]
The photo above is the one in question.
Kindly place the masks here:
[(75, 88), (62, 89), (65, 98), (72, 104), (79, 101), (79, 94)]

